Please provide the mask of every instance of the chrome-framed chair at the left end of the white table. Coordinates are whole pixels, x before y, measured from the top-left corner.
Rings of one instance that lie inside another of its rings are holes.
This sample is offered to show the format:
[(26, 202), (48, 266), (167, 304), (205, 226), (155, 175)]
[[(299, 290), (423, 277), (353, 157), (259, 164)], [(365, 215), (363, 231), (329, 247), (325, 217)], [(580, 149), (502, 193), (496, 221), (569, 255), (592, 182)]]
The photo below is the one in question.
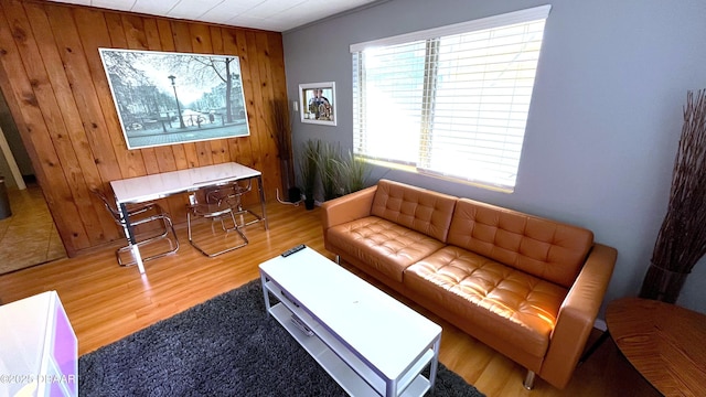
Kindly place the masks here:
[[(105, 205), (110, 216), (113, 216), (113, 221), (115, 221), (116, 225), (118, 225), (122, 230), (125, 230), (125, 219), (120, 216), (120, 212), (114, 206), (114, 204), (108, 200), (105, 193), (100, 190), (94, 189), (90, 191), (94, 195), (96, 195), (103, 204)], [(136, 245), (142, 247), (150, 243), (157, 243), (158, 240), (165, 239), (169, 244), (169, 249), (160, 250), (157, 254), (148, 255), (142, 257), (142, 261), (152, 260), (157, 258), (161, 258), (167, 255), (174, 254), (179, 250), (179, 238), (176, 238), (176, 233), (174, 232), (174, 226), (169, 214), (164, 212), (164, 210), (157, 203), (148, 203), (148, 204), (139, 204), (128, 208), (128, 216), (130, 218), (130, 225), (132, 227), (138, 227), (140, 225), (147, 224), (156, 224), (158, 227), (149, 228), (142, 233), (139, 233)], [(125, 246), (116, 249), (115, 254), (118, 259), (118, 265), (120, 266), (132, 266), (136, 265), (136, 261), (124, 262), (120, 254), (129, 253), (130, 246)]]

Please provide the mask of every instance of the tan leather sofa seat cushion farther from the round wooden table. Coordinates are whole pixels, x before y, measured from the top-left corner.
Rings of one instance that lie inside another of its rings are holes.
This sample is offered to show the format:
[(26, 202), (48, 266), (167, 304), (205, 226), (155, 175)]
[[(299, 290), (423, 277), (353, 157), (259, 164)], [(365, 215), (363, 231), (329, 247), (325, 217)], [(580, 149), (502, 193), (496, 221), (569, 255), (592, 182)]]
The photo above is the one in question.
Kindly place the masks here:
[(334, 226), (327, 232), (331, 245), (344, 256), (402, 282), (409, 265), (443, 247), (443, 243), (377, 216)]

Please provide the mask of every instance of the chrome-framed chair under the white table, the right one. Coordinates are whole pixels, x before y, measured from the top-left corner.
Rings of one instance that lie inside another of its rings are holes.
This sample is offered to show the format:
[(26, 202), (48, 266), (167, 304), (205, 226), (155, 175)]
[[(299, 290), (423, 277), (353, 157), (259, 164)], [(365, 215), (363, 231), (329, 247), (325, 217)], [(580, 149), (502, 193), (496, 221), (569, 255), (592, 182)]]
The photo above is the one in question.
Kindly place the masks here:
[[(228, 205), (227, 201), (221, 200), (215, 193), (228, 190), (228, 186), (229, 185), (206, 187), (189, 195), (189, 205), (186, 206), (189, 243), (201, 254), (210, 258), (245, 247), (248, 244), (247, 237), (240, 229), (242, 226), (238, 225), (235, 219), (235, 212)], [(194, 218), (211, 221), (211, 234), (208, 235), (203, 230), (194, 233), (196, 229), (193, 222)], [(218, 228), (223, 232), (222, 234), (216, 232), (214, 227), (217, 223), (221, 224)], [(229, 244), (228, 237), (232, 232), (235, 232), (239, 237), (239, 242), (235, 245)], [(196, 242), (196, 236), (199, 237), (199, 242)]]

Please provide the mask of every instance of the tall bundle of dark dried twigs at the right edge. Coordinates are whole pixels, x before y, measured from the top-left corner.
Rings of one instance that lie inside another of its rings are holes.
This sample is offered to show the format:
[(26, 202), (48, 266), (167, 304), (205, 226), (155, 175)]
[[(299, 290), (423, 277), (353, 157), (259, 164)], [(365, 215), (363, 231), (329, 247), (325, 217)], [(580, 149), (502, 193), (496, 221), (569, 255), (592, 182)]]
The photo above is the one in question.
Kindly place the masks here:
[(706, 92), (688, 92), (670, 202), (640, 297), (674, 303), (706, 254)]

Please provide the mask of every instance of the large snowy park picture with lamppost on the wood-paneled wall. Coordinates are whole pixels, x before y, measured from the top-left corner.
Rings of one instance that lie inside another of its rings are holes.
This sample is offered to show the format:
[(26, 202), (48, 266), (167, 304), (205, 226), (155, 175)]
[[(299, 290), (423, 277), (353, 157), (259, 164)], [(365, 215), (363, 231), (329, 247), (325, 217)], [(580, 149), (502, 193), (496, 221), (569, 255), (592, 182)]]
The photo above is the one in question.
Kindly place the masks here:
[(238, 56), (98, 51), (128, 149), (250, 135)]

